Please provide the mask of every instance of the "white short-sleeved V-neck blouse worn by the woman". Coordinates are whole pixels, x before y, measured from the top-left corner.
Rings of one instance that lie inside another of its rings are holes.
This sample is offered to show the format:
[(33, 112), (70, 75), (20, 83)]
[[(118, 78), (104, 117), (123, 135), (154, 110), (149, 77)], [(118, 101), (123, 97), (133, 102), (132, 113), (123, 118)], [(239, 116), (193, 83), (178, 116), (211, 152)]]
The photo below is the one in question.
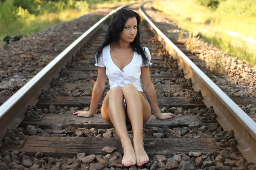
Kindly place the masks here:
[[(148, 48), (145, 47), (145, 51), (149, 60), (149, 65), (151, 65), (151, 55)], [(148, 65), (143, 64), (141, 55), (136, 52), (134, 52), (131, 62), (126, 65), (125, 68), (120, 70), (111, 58), (110, 45), (107, 45), (103, 48), (99, 63), (96, 63), (95, 66), (106, 67), (106, 74), (109, 79), (110, 89), (114, 87), (122, 88), (126, 84), (133, 84), (138, 91), (143, 91), (140, 84), (140, 67)]]

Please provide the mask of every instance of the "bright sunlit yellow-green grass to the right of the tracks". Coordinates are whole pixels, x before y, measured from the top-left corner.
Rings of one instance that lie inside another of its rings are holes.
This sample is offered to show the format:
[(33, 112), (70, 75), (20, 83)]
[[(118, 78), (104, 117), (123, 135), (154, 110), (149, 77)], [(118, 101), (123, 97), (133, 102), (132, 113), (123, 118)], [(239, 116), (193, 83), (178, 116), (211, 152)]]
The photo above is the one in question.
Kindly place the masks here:
[(168, 0), (153, 7), (191, 34), (256, 64), (256, 0)]

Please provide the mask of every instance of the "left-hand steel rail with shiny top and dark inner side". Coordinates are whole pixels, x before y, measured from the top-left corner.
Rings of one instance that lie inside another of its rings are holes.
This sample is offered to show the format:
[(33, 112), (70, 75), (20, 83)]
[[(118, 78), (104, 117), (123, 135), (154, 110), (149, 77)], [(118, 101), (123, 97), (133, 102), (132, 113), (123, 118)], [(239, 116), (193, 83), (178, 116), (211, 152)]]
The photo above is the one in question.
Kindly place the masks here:
[(39, 101), (41, 88), (49, 89), (51, 82), (49, 77), (58, 77), (61, 66), (66, 65), (67, 60), (100, 28), (100, 25), (114, 12), (129, 5), (131, 4), (120, 6), (99, 20), (0, 106), (0, 148), (7, 127), (18, 127), (25, 118), (27, 105), (35, 105)]

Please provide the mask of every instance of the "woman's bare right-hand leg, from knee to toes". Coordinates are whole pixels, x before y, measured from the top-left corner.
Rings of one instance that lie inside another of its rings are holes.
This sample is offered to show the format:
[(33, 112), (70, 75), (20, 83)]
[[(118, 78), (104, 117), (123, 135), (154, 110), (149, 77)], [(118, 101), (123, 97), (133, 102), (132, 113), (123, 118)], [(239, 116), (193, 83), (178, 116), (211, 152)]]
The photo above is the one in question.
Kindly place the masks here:
[[(136, 155), (136, 162), (138, 166), (142, 166), (143, 164), (149, 161), (148, 155), (143, 147), (143, 103), (140, 96), (140, 92), (137, 88), (128, 84), (122, 88), (123, 95), (125, 97), (125, 101), (127, 104), (127, 112), (128, 117), (131, 122), (132, 130), (133, 130), (133, 143), (134, 143), (134, 152)], [(142, 97), (143, 98), (143, 97)], [(143, 102), (146, 102), (143, 99)], [(150, 105), (149, 105), (150, 107)], [(150, 116), (149, 111), (149, 116)], [(149, 118), (149, 117), (148, 117)]]

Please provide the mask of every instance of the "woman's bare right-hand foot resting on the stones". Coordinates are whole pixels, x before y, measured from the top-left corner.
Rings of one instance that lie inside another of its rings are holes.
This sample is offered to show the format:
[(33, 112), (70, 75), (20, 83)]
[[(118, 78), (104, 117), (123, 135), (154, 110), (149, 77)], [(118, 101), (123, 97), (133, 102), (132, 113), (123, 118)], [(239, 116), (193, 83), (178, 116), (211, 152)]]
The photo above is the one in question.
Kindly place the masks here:
[(147, 153), (144, 150), (143, 143), (134, 142), (134, 152), (136, 155), (137, 166), (142, 166), (145, 163), (148, 163), (149, 158)]

